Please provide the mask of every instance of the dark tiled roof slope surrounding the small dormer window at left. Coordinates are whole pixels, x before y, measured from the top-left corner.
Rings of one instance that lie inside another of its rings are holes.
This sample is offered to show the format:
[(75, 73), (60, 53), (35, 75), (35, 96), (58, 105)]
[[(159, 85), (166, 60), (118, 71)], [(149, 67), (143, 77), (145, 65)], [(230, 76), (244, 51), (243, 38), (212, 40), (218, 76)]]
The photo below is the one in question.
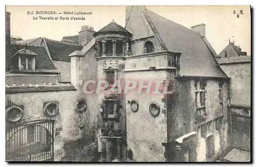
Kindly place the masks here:
[[(6, 70), (9, 71), (13, 65), (12, 57), (18, 50), (26, 48), (23, 44), (6, 44)], [(44, 46), (27, 45), (27, 49), (38, 54), (35, 59), (36, 69), (55, 70), (55, 66), (49, 58)]]

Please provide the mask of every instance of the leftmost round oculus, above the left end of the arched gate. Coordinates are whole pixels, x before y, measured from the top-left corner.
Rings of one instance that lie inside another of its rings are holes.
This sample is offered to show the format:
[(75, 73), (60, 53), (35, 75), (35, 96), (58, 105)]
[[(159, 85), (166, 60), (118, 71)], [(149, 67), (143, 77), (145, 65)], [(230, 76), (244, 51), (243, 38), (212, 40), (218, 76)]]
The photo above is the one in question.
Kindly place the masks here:
[(6, 118), (10, 122), (17, 122), (22, 118), (22, 116), (23, 110), (18, 106), (11, 106), (6, 109)]

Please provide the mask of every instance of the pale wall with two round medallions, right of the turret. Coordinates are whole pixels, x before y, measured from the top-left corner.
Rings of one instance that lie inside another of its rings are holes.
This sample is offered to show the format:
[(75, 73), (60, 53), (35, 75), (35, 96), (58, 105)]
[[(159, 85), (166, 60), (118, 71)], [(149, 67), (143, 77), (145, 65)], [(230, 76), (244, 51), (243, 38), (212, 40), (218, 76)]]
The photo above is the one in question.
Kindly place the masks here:
[[(166, 71), (127, 72), (126, 80), (146, 81), (166, 80)], [(137, 86), (138, 88), (138, 86)], [(154, 89), (153, 89), (154, 90)], [(167, 141), (166, 110), (163, 109), (163, 94), (137, 93), (137, 90), (126, 94), (126, 141), (127, 149), (133, 152), (133, 160), (140, 162), (165, 161), (162, 142)], [(137, 112), (131, 111), (129, 101), (136, 100), (139, 104)], [(160, 106), (160, 114), (153, 117), (149, 107), (151, 103)]]

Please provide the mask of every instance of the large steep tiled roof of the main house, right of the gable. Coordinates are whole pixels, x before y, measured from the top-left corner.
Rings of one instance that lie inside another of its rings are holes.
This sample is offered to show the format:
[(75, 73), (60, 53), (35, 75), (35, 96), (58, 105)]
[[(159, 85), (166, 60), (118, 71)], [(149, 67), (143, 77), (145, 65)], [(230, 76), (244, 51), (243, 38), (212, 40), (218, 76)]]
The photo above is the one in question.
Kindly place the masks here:
[(146, 10), (145, 14), (149, 16), (167, 50), (182, 53), (180, 57), (181, 75), (227, 77), (198, 32), (150, 10)]

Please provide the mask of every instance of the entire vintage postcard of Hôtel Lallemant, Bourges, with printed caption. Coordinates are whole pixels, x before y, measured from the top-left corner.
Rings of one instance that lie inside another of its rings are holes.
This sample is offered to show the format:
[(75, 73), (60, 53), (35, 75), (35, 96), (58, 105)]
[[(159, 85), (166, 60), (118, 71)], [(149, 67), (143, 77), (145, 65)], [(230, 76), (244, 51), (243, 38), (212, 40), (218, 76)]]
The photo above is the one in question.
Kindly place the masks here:
[(250, 162), (250, 20), (250, 6), (6, 6), (6, 161)]

